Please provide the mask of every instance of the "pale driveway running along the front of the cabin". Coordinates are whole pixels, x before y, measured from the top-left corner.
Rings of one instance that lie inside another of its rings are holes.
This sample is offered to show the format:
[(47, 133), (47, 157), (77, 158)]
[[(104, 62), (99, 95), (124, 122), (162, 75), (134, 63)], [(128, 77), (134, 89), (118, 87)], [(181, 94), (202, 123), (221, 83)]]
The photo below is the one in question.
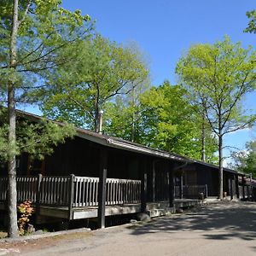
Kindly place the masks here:
[[(149, 224), (0, 243), (0, 255), (256, 255), (256, 203), (226, 203)], [(2, 251), (1, 251), (2, 249)], [(2, 254), (1, 254), (2, 253)], [(4, 254), (3, 254), (4, 253)]]

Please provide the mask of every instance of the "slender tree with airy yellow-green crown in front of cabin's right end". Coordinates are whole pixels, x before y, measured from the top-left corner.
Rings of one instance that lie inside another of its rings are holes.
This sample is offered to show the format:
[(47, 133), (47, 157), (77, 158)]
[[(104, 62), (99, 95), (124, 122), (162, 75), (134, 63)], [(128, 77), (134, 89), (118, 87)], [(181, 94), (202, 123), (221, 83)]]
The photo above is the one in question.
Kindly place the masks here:
[(177, 63), (177, 74), (189, 97), (201, 106), (218, 138), (219, 198), (223, 198), (223, 137), (251, 125), (255, 115), (241, 108), (243, 97), (255, 87), (255, 52), (232, 44), (197, 44)]

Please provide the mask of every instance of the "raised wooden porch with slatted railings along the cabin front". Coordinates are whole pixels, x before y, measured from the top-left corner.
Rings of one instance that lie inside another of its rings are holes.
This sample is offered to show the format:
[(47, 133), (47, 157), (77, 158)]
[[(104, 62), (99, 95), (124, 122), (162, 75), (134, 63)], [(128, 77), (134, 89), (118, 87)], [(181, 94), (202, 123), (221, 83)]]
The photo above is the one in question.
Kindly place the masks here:
[[(175, 207), (200, 204), (200, 195), (207, 196), (207, 186), (175, 186), (173, 202), (168, 191), (160, 190), (158, 200), (143, 202), (141, 180), (106, 178), (105, 216), (148, 212), (151, 216), (173, 212)], [(0, 177), (0, 210), (6, 209), (8, 178)], [(17, 177), (17, 201), (32, 201), (37, 216), (67, 220), (99, 216), (100, 179), (79, 176)], [(165, 195), (164, 195), (165, 194)], [(143, 205), (146, 205), (143, 209)]]

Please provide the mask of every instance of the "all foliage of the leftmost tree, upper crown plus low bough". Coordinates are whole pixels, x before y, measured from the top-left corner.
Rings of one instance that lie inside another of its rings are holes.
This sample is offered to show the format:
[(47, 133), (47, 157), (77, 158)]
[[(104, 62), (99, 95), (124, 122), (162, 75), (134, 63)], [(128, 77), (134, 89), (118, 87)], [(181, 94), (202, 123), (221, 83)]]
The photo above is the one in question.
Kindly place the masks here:
[[(42, 88), (48, 88), (49, 77), (60, 65), (70, 65), (73, 49), (90, 37), (93, 22), (89, 15), (79, 10), (71, 12), (61, 8), (59, 0), (20, 0), (18, 6), (17, 44), (10, 49), (13, 24), (13, 1), (3, 0), (0, 5), (0, 104), (5, 105), (9, 84), (15, 88), (11, 102), (37, 103), (44, 96)], [(15, 52), (15, 65), (9, 67), (10, 52)], [(27, 152), (44, 158), (51, 154), (57, 143), (74, 134), (73, 125), (56, 125), (42, 120), (30, 122), (19, 119), (14, 143), (8, 142), (7, 113), (1, 111), (0, 156), (15, 156)]]

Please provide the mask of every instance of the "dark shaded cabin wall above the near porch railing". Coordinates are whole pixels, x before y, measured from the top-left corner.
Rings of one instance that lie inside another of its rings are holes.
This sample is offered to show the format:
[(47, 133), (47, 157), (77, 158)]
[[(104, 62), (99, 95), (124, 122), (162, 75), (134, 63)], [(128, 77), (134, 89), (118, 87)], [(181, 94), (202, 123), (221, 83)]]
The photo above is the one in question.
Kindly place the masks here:
[[(99, 177), (101, 145), (75, 137), (55, 147), (43, 161), (31, 160), (28, 154), (19, 157), (17, 175)], [(108, 177), (139, 179), (140, 156), (117, 148), (108, 148)], [(30, 166), (30, 167), (29, 167)], [(4, 168), (3, 175), (7, 172)]]

